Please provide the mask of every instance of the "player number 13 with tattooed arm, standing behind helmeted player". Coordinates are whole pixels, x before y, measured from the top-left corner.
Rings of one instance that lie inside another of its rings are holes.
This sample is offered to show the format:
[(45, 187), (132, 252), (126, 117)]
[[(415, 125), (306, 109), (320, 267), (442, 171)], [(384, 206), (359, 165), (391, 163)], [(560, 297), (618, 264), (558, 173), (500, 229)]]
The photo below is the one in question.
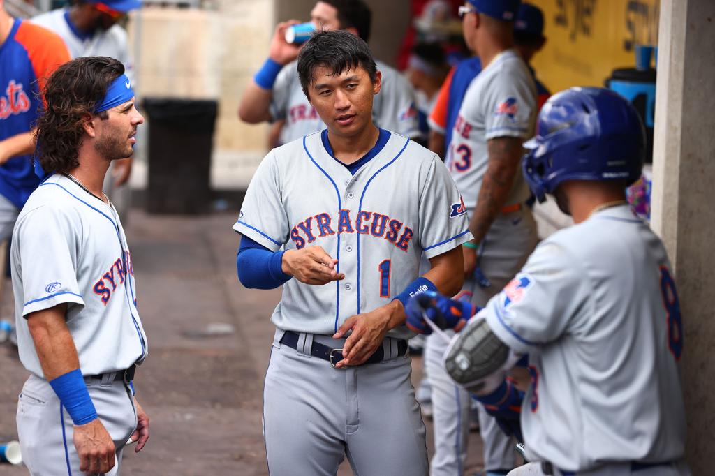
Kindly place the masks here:
[[(470, 0), (460, 8), (465, 41), (483, 70), (469, 85), (452, 133), (445, 164), (470, 216), (471, 242), (463, 246), (465, 284), (458, 299), (484, 306), (504, 287), (536, 246), (536, 225), (523, 204), (529, 197), (519, 159), (533, 135), (536, 86), (513, 46), (518, 0)], [(427, 339), (425, 359), (432, 386), (435, 455), (432, 474), (462, 474), (468, 442), (470, 397), (442, 366), (448, 341)], [(526, 373), (526, 372), (525, 372)], [(480, 409), (484, 467), (506, 474), (516, 465), (513, 442)]]

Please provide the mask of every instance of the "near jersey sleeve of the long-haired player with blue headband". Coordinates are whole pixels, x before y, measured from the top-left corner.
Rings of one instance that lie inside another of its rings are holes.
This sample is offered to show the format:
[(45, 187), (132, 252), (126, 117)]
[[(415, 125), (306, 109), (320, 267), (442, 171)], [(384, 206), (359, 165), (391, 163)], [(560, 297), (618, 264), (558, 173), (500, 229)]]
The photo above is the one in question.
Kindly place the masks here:
[(13, 254), (22, 276), (22, 315), (62, 303), (84, 306), (77, 284), (81, 237), (66, 214), (43, 206), (15, 225)]

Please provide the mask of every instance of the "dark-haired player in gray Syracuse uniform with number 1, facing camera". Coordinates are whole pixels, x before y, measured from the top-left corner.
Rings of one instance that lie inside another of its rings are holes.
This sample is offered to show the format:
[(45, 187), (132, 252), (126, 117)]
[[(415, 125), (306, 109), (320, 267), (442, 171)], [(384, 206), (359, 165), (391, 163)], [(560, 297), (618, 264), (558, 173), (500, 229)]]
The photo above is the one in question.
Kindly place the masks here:
[(404, 303), (460, 289), (466, 210), (436, 154), (373, 124), (380, 72), (365, 41), (321, 31), (297, 67), (327, 129), (263, 159), (234, 226), (241, 282), (283, 284), (264, 390), (268, 467), (335, 475), (347, 456), (355, 474), (427, 475)]

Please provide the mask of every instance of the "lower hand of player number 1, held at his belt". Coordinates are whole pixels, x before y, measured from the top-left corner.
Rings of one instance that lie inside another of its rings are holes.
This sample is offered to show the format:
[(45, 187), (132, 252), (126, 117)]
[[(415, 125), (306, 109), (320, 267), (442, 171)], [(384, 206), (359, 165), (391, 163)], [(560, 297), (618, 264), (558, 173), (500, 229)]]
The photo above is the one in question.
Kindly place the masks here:
[(395, 299), (374, 311), (348, 317), (332, 336), (333, 339), (340, 339), (352, 329), (352, 334), (342, 344), (342, 360), (335, 367), (360, 365), (368, 360), (383, 344), (388, 330), (403, 323), (402, 307), (402, 303)]

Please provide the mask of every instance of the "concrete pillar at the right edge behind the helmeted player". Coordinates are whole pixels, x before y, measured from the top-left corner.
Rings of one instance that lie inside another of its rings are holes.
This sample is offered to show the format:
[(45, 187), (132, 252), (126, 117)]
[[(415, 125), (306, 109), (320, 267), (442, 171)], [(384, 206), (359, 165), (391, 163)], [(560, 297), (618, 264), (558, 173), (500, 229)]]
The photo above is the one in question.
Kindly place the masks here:
[(684, 322), (686, 456), (711, 474), (715, 432), (715, 2), (661, 0), (653, 229), (676, 274)]

